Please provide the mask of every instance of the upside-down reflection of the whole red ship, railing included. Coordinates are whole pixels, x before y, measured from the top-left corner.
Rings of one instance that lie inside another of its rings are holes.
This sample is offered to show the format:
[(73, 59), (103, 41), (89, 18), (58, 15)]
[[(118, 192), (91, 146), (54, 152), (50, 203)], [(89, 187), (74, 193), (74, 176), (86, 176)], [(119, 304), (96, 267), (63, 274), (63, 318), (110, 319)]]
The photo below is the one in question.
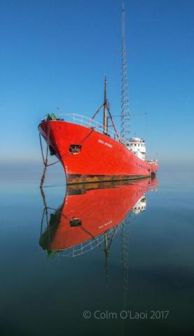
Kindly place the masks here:
[(97, 246), (108, 254), (118, 230), (125, 232), (129, 216), (146, 210), (146, 193), (155, 188), (157, 180), (151, 178), (68, 186), (58, 209), (48, 207), (42, 190), (39, 244), (48, 255), (75, 257)]

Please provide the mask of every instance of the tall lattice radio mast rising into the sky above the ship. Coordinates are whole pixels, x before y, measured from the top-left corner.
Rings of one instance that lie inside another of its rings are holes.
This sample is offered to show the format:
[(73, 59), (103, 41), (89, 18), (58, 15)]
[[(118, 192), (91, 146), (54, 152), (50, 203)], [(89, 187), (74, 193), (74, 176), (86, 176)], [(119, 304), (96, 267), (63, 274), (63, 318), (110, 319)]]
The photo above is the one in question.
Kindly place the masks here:
[(125, 8), (122, 7), (122, 75), (121, 75), (121, 137), (130, 141), (130, 106), (127, 80), (127, 56), (125, 40)]

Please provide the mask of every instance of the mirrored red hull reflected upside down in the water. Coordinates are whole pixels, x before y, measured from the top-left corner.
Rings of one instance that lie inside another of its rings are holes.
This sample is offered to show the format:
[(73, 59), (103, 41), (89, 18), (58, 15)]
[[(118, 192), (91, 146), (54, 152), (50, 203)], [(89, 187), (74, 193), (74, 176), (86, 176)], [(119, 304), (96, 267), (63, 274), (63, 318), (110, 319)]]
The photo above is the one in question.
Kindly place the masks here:
[[(50, 217), (50, 225), (41, 235), (41, 246), (61, 251), (95, 239), (121, 223), (137, 201), (157, 186), (157, 180), (151, 178), (118, 183), (96, 184), (96, 188), (94, 184), (85, 185), (85, 189), (71, 186), (62, 207)], [(75, 218), (80, 225), (71, 226)]]

